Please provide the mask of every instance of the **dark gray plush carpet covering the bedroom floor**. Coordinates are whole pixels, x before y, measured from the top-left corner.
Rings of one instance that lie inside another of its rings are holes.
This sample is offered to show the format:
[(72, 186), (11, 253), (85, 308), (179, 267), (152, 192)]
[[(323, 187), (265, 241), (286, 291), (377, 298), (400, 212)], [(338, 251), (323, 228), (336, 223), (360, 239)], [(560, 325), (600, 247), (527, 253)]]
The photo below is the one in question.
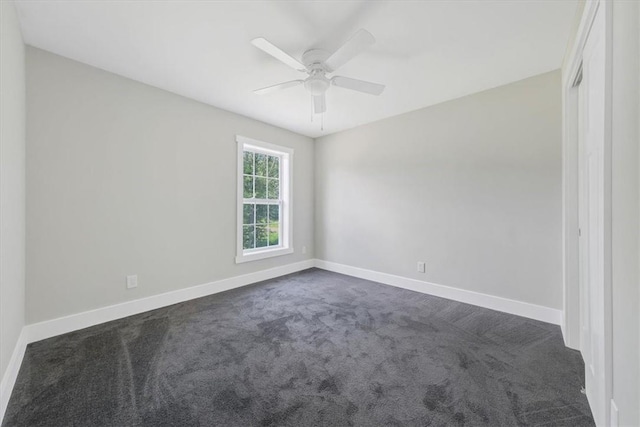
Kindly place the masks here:
[(3, 426), (593, 425), (560, 329), (307, 270), (30, 344)]

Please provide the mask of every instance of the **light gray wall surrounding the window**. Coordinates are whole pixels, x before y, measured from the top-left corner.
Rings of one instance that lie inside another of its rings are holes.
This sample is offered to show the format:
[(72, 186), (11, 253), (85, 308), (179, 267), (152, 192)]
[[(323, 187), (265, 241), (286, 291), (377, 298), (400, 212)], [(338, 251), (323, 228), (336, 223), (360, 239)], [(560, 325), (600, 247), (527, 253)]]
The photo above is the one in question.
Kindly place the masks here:
[[(312, 139), (34, 48), (27, 87), (28, 323), (314, 257)], [(237, 133), (295, 150), (294, 254), (234, 263)]]

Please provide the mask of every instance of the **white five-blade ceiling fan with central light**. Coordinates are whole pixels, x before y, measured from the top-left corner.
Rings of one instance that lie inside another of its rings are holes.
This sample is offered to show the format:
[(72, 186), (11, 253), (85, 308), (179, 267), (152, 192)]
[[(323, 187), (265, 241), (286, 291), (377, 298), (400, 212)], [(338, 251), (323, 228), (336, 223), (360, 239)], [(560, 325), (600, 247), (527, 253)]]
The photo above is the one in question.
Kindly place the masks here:
[(305, 89), (313, 96), (313, 111), (316, 114), (327, 111), (325, 93), (332, 85), (369, 93), (371, 95), (380, 95), (384, 90), (384, 85), (342, 76), (327, 77), (327, 74), (336, 71), (353, 57), (374, 44), (375, 41), (376, 39), (371, 33), (361, 29), (332, 54), (329, 54), (329, 52), (323, 49), (310, 49), (302, 54), (302, 61), (298, 61), (265, 38), (259, 37), (253, 39), (251, 40), (251, 44), (258, 49), (265, 51), (291, 68), (309, 75), (309, 77), (304, 80), (292, 80), (268, 86), (254, 90), (254, 93), (264, 95), (282, 89), (304, 85)]

